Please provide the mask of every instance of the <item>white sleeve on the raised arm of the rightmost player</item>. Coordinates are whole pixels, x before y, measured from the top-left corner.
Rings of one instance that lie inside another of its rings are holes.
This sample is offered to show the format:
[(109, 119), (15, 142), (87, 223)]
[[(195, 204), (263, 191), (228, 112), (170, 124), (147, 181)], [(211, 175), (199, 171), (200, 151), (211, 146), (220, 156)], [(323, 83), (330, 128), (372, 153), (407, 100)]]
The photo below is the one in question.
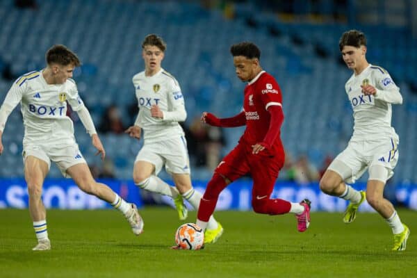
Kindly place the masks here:
[(395, 85), (388, 72), (377, 72), (375, 76), (375, 99), (385, 101), (390, 104), (402, 104), (400, 88)]

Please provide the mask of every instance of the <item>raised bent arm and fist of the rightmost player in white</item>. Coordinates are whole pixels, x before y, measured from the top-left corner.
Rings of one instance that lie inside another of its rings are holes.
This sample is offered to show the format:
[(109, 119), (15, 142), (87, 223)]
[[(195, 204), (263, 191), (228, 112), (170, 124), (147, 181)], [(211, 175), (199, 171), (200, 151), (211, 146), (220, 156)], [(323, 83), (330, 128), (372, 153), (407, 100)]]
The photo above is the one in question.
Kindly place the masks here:
[(385, 101), (389, 104), (402, 104), (400, 88), (395, 85), (391, 76), (385, 72), (378, 73), (375, 79), (376, 84), (361, 85), (363, 95), (373, 95), (375, 99)]

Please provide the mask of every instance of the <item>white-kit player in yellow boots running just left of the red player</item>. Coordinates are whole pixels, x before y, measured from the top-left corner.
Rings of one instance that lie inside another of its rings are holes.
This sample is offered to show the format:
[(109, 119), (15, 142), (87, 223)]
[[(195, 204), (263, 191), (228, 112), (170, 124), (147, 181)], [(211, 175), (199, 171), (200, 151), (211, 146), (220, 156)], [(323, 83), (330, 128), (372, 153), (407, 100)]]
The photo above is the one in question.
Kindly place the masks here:
[[(194, 190), (190, 179), (187, 142), (178, 122), (186, 120), (187, 113), (178, 81), (161, 67), (166, 44), (162, 38), (150, 34), (142, 42), (145, 71), (133, 76), (139, 113), (136, 122), (126, 130), (144, 144), (133, 166), (133, 181), (142, 189), (174, 199), (179, 219), (188, 214), (183, 199), (195, 210), (202, 194)], [(172, 174), (175, 187), (157, 177), (163, 165)], [(211, 216), (204, 243), (214, 243), (223, 232), (222, 225)]]

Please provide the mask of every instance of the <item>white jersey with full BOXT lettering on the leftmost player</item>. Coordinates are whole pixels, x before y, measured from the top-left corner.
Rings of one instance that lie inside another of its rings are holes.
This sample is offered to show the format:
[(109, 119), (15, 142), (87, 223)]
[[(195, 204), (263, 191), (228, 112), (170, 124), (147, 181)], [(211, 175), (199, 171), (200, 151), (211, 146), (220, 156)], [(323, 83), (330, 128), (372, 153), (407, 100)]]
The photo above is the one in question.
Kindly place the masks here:
[(15, 108), (20, 102), (24, 144), (59, 140), (60, 145), (66, 145), (74, 142), (74, 125), (67, 117), (67, 101), (74, 111), (84, 106), (74, 80), (48, 84), (39, 71), (20, 76), (8, 91), (4, 104)]

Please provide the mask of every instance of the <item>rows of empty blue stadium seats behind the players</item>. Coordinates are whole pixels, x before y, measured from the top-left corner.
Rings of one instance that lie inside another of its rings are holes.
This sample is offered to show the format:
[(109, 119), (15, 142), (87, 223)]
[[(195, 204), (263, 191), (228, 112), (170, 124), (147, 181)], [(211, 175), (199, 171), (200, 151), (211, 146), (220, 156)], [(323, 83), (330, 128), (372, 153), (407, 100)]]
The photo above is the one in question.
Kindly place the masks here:
[[(262, 13), (254, 16), (256, 26), (250, 26), (245, 6), (236, 7), (235, 19), (225, 19), (221, 10), (205, 10), (190, 1), (38, 2), (37, 9), (22, 10), (15, 8), (13, 0), (1, 1), (1, 102), (13, 83), (7, 76), (40, 70), (45, 51), (52, 44), (65, 44), (83, 62), (74, 79), (96, 126), (111, 104), (120, 108), (124, 124), (133, 124), (128, 111), (136, 104), (131, 78), (144, 68), (142, 39), (157, 33), (167, 42), (163, 67), (176, 76), (186, 99), (186, 123), (202, 111), (227, 117), (240, 111), (245, 86), (236, 78), (229, 47), (249, 40), (259, 45), (261, 65), (281, 86), (286, 115), (281, 137), (287, 152), (307, 154), (317, 167), (325, 156), (336, 156), (344, 149), (352, 134), (352, 109), (344, 91), (352, 73), (340, 62), (338, 38), (349, 28), (359, 28), (368, 36), (368, 61), (386, 68), (404, 97), (404, 104), (393, 108), (393, 126), (400, 135), (394, 180), (417, 182), (417, 42), (401, 28), (289, 24)], [(89, 163), (99, 163), (81, 122), (75, 126), (81, 152)], [(3, 133), (0, 177), (23, 175), (23, 130), (16, 108)], [(224, 153), (234, 147), (241, 131), (225, 130)], [(115, 163), (116, 177), (131, 179), (141, 142), (113, 134), (103, 134), (101, 140)], [(195, 178), (207, 175), (204, 170), (195, 173)], [(49, 177), (60, 177), (56, 167)]]

